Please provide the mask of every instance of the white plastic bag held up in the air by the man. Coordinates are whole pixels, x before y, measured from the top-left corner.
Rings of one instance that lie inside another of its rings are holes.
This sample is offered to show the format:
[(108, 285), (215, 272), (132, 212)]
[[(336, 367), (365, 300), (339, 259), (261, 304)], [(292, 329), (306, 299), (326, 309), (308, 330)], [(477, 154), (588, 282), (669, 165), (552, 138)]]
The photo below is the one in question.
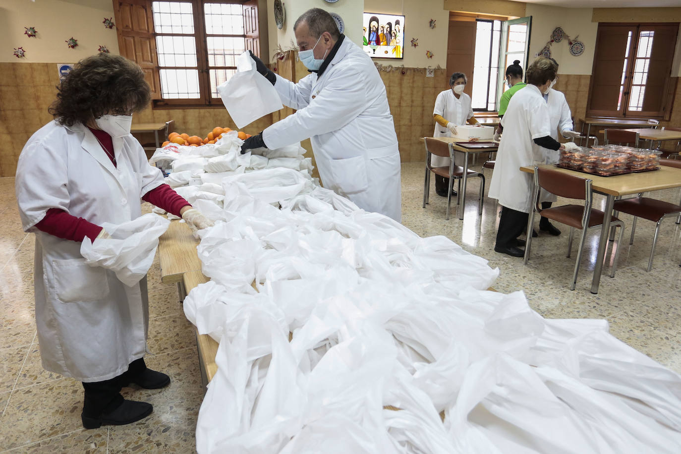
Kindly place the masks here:
[(248, 50), (236, 57), (236, 74), (217, 91), (238, 128), (283, 108), (274, 85), (256, 71)]

